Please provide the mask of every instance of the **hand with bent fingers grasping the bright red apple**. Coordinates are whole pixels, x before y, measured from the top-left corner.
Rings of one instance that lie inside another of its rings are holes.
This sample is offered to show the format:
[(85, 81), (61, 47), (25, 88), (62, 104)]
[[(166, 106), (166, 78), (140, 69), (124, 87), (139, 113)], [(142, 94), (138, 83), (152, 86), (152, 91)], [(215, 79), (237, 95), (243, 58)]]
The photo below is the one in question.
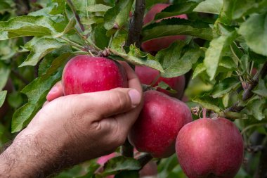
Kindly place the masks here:
[[(58, 97), (62, 96), (62, 89), (56, 85), (59, 94), (51, 98), (48, 95), (49, 101), (54, 100), (46, 103), (13, 143), (16, 146), (25, 138), (34, 140), (34, 146), (27, 149), (37, 150), (41, 158), (24, 159), (34, 163), (35, 171), (50, 174), (51, 165), (53, 169), (61, 169), (106, 155), (124, 144), (142, 108), (142, 88), (129, 65), (122, 65), (129, 80), (127, 89)], [(14, 151), (14, 146), (11, 145), (9, 152)]]

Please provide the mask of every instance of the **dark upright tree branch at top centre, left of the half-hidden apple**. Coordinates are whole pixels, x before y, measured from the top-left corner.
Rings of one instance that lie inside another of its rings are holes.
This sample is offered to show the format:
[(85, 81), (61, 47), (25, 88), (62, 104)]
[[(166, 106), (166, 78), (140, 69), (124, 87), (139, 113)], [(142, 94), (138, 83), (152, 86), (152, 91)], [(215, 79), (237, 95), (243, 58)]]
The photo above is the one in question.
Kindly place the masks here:
[(145, 13), (145, 0), (136, 0), (136, 10), (130, 21), (128, 40), (126, 46), (136, 44), (141, 46), (141, 31), (143, 27), (143, 16)]

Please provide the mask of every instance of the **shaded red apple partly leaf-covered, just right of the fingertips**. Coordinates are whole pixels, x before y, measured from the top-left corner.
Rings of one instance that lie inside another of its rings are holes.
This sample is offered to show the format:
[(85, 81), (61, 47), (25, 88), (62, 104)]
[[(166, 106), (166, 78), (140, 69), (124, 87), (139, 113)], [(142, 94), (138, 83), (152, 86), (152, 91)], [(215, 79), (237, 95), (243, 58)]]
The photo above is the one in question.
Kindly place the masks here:
[[(138, 76), (142, 84), (151, 84), (155, 80), (155, 78), (159, 75), (159, 71), (146, 66), (136, 66), (135, 71), (136, 75)], [(183, 95), (183, 89), (185, 88), (185, 77), (183, 75), (172, 78), (159, 77), (157, 82), (155, 82), (155, 84), (152, 87), (156, 87), (157, 84), (159, 84), (159, 82), (167, 83), (169, 87), (175, 89), (177, 93), (171, 94), (169, 91), (161, 88), (158, 88), (157, 91), (161, 91), (164, 94), (176, 98), (181, 98), (181, 96)]]

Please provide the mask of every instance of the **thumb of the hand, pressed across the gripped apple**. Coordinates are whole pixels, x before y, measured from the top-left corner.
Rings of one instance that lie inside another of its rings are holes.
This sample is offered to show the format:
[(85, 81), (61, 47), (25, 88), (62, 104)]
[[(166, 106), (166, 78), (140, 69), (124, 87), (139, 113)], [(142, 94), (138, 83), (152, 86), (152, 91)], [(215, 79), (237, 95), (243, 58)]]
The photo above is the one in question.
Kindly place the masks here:
[(90, 94), (90, 105), (100, 119), (136, 108), (141, 103), (141, 94), (136, 89), (117, 88)]

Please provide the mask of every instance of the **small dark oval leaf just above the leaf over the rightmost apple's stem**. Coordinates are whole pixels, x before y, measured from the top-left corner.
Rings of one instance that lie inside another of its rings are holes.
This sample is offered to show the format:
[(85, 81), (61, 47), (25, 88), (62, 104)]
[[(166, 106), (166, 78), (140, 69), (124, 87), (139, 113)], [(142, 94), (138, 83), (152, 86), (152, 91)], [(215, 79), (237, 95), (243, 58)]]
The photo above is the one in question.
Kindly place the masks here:
[(219, 98), (225, 94), (228, 94), (232, 89), (235, 89), (240, 85), (240, 81), (236, 80), (233, 77), (228, 77), (223, 81), (219, 81), (219, 84), (216, 84), (211, 95), (214, 98)]

